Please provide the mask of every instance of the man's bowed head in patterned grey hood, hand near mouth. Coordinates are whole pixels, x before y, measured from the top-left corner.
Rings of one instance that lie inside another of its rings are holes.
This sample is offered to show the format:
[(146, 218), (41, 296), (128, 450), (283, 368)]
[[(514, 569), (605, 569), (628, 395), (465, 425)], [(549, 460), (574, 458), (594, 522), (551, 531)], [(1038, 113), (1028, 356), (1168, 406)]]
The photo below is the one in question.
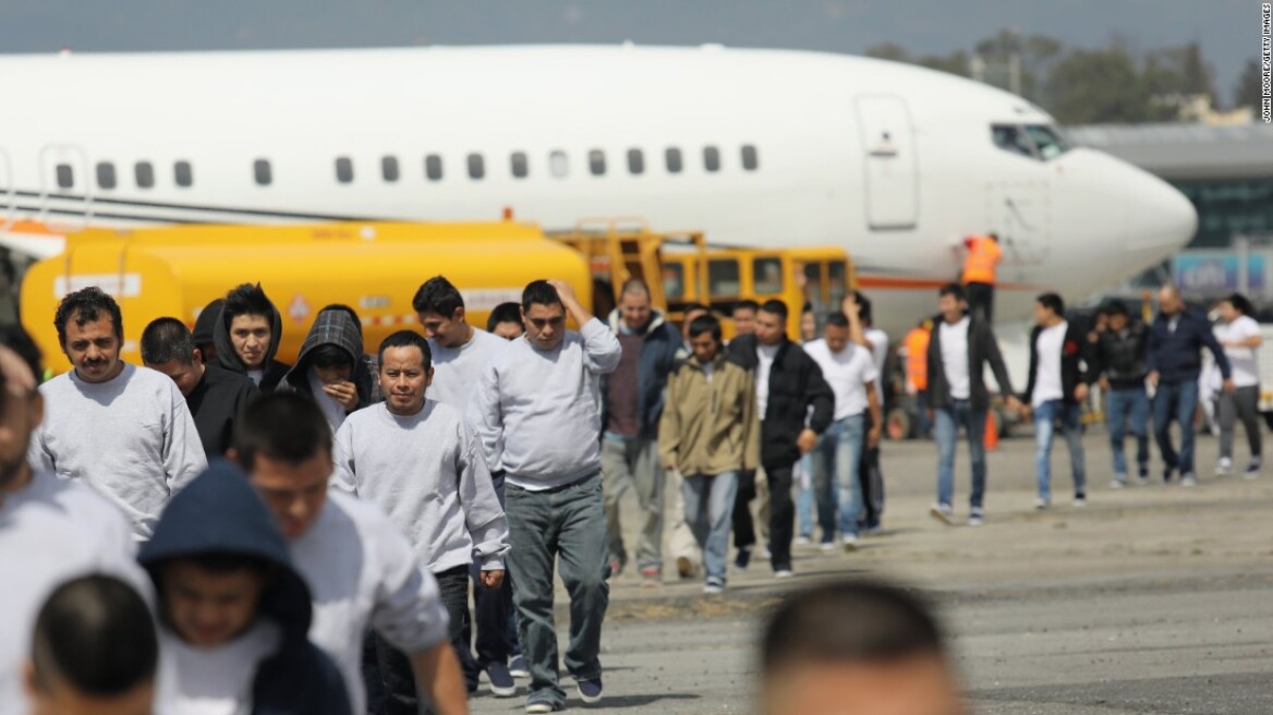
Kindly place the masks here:
[(363, 331), (354, 318), (344, 309), (318, 313), (283, 382), (313, 397), (332, 433), (351, 412), (370, 405), (374, 377), (363, 360)]

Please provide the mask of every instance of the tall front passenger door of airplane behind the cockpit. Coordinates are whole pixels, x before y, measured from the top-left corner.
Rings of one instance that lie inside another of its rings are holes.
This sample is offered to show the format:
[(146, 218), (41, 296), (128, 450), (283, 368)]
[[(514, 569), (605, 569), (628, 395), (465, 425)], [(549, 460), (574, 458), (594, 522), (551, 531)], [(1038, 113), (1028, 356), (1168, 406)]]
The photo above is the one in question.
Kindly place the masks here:
[(915, 228), (919, 214), (918, 158), (910, 111), (900, 97), (855, 101), (866, 170), (867, 226)]

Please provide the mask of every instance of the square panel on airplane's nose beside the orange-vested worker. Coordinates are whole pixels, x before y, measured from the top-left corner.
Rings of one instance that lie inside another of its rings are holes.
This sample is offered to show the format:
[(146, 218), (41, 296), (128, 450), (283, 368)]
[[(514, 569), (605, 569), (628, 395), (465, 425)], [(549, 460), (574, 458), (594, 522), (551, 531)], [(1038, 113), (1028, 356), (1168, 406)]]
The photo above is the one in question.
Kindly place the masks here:
[[(1037, 265), (1051, 252), (1051, 202), (1048, 182), (994, 182), (987, 191), (988, 229), (999, 235), (1004, 262)], [(975, 232), (971, 232), (975, 233)]]

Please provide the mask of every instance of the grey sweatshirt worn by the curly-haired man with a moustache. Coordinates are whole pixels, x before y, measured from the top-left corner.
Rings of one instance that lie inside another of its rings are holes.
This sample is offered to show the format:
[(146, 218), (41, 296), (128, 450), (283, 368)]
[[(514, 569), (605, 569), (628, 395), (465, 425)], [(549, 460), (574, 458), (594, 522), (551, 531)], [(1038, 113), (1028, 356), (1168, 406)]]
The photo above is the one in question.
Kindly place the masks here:
[(137, 541), (150, 538), (168, 499), (207, 468), (186, 398), (168, 375), (125, 364), (104, 383), (70, 371), (39, 393), (45, 421), (31, 438), (31, 463), (95, 489), (129, 518)]

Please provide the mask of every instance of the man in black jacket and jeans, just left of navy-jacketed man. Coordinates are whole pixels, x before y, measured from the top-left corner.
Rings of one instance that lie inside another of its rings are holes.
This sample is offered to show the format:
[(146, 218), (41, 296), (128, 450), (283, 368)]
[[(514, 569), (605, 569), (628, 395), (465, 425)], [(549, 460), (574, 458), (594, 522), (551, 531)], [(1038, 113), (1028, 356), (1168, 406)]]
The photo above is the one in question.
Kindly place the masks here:
[(1092, 347), (1092, 374), (1100, 378), (1105, 393), (1105, 429), (1114, 453), (1111, 489), (1127, 486), (1128, 466), (1123, 454), (1123, 436), (1136, 436), (1137, 483), (1150, 482), (1150, 397), (1144, 378), (1144, 324), (1133, 323), (1127, 305), (1119, 300), (1105, 308), (1109, 324)]

